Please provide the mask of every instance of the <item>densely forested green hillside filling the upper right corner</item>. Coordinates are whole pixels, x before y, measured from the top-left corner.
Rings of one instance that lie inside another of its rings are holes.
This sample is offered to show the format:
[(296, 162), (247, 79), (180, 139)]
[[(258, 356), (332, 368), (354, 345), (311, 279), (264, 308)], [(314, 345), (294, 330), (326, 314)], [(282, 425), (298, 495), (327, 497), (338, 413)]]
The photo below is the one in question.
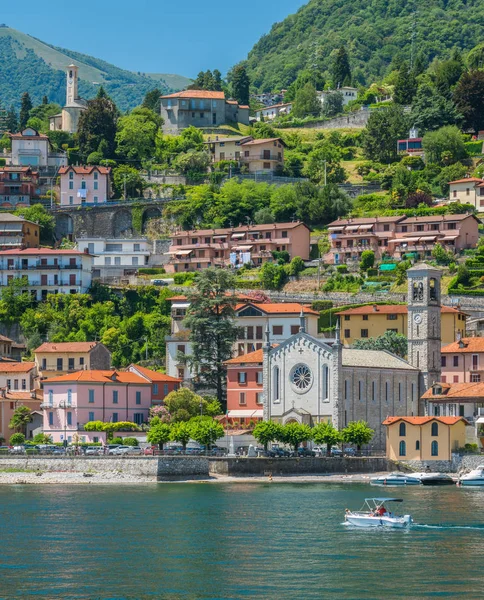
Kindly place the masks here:
[(431, 61), (481, 42), (483, 22), (484, 0), (311, 0), (257, 42), (249, 76), (257, 90), (270, 91), (304, 68), (328, 74), (331, 52), (344, 45), (356, 82), (368, 84), (388, 73), (394, 56), (410, 58), (413, 30), (416, 50)]

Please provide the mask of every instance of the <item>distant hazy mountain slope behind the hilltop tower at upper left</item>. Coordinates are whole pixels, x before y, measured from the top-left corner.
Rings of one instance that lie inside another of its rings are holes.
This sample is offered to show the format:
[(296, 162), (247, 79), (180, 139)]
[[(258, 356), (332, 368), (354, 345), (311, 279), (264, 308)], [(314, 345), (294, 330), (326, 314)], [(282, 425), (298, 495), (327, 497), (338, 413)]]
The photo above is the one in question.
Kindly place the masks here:
[(51, 102), (65, 102), (64, 68), (75, 62), (79, 66), (79, 92), (83, 98), (96, 95), (99, 85), (115, 100), (121, 110), (137, 106), (149, 90), (176, 91), (189, 83), (181, 75), (153, 77), (119, 69), (114, 65), (72, 50), (57, 48), (5, 25), (0, 26), (0, 104), (18, 106), (20, 96), (28, 91), (34, 104), (44, 95)]

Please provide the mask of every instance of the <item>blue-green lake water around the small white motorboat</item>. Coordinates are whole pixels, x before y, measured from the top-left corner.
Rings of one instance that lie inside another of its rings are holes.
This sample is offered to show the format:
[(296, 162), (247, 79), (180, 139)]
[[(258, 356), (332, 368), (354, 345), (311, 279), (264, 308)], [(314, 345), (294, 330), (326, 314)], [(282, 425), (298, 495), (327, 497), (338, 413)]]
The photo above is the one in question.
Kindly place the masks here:
[[(401, 496), (421, 524), (351, 529)], [(484, 490), (0, 486), (0, 598), (484, 598)]]

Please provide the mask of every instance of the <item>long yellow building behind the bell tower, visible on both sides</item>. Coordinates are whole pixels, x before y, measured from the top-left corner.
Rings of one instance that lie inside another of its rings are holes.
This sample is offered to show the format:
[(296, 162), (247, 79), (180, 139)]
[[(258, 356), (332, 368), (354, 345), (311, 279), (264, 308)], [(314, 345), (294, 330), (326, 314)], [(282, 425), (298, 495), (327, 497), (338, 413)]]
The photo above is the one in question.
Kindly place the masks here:
[[(369, 305), (349, 308), (337, 313), (340, 317), (340, 337), (345, 346), (351, 346), (355, 340), (383, 335), (394, 331), (407, 335), (408, 309), (399, 305)], [(466, 313), (442, 306), (442, 343), (451, 344), (466, 335)]]

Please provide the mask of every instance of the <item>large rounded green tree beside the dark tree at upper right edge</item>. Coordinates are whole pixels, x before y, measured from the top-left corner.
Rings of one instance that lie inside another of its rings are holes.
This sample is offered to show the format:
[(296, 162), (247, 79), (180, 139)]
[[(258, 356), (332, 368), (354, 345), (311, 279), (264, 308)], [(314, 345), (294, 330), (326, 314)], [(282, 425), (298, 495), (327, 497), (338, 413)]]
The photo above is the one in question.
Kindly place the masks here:
[(410, 120), (420, 134), (423, 134), (444, 125), (460, 124), (462, 115), (452, 100), (440, 95), (433, 86), (422, 84), (412, 104)]

